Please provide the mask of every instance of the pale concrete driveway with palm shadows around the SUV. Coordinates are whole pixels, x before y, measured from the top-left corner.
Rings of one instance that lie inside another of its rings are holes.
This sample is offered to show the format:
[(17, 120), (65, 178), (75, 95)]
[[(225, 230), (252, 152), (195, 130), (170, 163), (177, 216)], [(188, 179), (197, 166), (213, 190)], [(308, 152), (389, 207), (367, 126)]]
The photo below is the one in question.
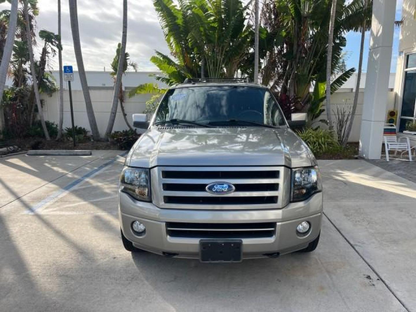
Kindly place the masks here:
[(322, 161), (314, 253), (202, 264), (124, 250), (117, 154), (0, 159), (0, 311), (416, 311), (415, 183)]

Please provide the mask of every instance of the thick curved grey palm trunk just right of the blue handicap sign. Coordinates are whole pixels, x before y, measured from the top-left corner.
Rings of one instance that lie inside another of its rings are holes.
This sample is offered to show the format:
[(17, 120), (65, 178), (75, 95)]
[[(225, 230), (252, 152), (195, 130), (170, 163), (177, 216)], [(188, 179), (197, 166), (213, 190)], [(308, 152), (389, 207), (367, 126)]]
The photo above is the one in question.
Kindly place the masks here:
[(71, 20), (72, 40), (74, 41), (75, 58), (77, 59), (79, 80), (81, 81), (82, 92), (84, 93), (85, 106), (92, 137), (98, 141), (100, 134), (95, 120), (94, 109), (92, 108), (91, 96), (89, 95), (87, 76), (85, 75), (84, 61), (82, 59), (81, 40), (79, 39), (77, 0), (69, 0), (69, 17)]

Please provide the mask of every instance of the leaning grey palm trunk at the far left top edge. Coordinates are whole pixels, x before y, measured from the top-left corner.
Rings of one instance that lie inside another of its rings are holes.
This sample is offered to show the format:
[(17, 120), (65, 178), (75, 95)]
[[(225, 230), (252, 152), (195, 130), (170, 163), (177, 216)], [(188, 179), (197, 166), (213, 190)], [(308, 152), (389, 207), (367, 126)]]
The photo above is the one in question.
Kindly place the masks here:
[[(0, 0), (0, 3), (2, 2), (5, 2), (5, 0)], [(13, 46), (15, 43), (18, 5), (19, 4), (17, 0), (12, 1), (12, 7), (10, 9), (9, 26), (7, 29), (7, 38), (6, 38), (6, 42), (5, 42), (5, 46), (3, 50), (3, 55), (1, 57), (1, 65), (0, 65), (0, 100), (3, 96), (3, 91), (5, 88), (5, 84), (6, 84), (7, 69), (9, 68), (10, 57), (12, 56)]]

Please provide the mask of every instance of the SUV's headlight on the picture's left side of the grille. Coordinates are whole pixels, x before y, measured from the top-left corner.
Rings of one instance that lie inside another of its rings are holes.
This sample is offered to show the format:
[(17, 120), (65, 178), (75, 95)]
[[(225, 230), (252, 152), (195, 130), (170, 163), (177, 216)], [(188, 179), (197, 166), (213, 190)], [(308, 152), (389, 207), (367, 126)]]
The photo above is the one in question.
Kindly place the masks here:
[(120, 191), (138, 201), (150, 201), (149, 169), (124, 167), (120, 177)]

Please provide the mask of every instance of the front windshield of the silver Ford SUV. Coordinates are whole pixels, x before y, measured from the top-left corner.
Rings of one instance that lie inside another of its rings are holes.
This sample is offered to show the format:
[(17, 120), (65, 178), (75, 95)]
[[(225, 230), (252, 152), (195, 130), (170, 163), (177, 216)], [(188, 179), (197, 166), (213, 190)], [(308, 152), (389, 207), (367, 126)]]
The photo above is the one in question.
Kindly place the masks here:
[(170, 89), (156, 111), (154, 123), (169, 120), (215, 125), (244, 121), (246, 126), (286, 125), (279, 104), (267, 89), (242, 86)]

